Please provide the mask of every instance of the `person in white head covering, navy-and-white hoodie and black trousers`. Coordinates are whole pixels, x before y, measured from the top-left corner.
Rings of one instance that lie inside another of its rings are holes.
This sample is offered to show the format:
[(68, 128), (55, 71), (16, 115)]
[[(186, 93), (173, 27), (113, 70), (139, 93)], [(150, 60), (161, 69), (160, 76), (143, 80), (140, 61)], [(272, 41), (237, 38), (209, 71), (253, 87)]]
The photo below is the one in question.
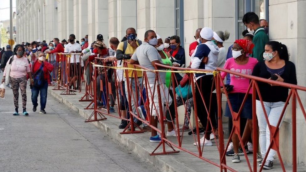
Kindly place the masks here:
[[(190, 65), (193, 69), (208, 69), (208, 70), (215, 70), (217, 67), (217, 61), (218, 61), (218, 54), (219, 54), (219, 48), (217, 45), (215, 45), (211, 39), (214, 36), (214, 32), (211, 28), (203, 28), (200, 32), (200, 41), (201, 44), (199, 44), (196, 49), (194, 50), (193, 54), (191, 55), (191, 62)], [(207, 59), (207, 60), (205, 60)], [(215, 93), (212, 93), (212, 87), (213, 87), (213, 74), (212, 73), (206, 73), (206, 74), (194, 74), (196, 84), (199, 87), (196, 87), (195, 89), (195, 95), (193, 95), (193, 98), (196, 100), (196, 107), (198, 112), (198, 118), (200, 119), (200, 122), (203, 126), (203, 128), (206, 128), (207, 126), (207, 118), (208, 115), (211, 119), (212, 125), (216, 126), (216, 119), (215, 119), (215, 110), (216, 110), (216, 104), (217, 104), (217, 96)], [(213, 87), (213, 90), (215, 88)], [(205, 105), (207, 109), (211, 109), (210, 113), (207, 114), (207, 111), (204, 106), (204, 102), (202, 100), (202, 96), (205, 101)], [(210, 97), (212, 97), (212, 101), (210, 101)], [(201, 146), (212, 146), (212, 142), (210, 141), (210, 134), (212, 128), (209, 123), (208, 130), (205, 132), (205, 135), (200, 139)], [(198, 142), (193, 143), (193, 145), (198, 146)]]

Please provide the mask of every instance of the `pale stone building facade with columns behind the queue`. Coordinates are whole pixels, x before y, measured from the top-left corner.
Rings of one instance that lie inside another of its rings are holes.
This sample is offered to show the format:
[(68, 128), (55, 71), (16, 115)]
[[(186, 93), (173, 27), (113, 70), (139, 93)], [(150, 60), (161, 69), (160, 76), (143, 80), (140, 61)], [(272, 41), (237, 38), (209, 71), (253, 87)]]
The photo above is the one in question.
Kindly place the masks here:
[[(103, 34), (108, 44), (108, 38), (120, 40), (129, 27), (136, 29), (140, 40), (144, 39), (146, 30), (152, 29), (163, 39), (180, 36), (186, 63), (190, 61), (188, 48), (195, 40), (196, 29), (228, 30), (230, 37), (224, 43), (228, 48), (246, 29), (243, 14), (253, 11), (269, 21), (269, 38), (288, 46), (290, 60), (296, 65), (298, 85), (306, 85), (306, 0), (16, 0), (16, 5), (17, 42), (67, 39), (73, 33), (77, 40), (88, 34), (89, 42), (97, 34)], [(306, 94), (300, 96), (306, 102)], [(305, 119), (303, 115), (297, 119), (297, 131), (302, 133), (306, 130)], [(280, 149), (286, 154), (283, 160), (289, 162), (292, 159), (291, 149), (287, 149), (292, 144), (290, 126), (288, 110), (281, 128)], [(297, 143), (298, 162), (305, 163), (306, 138), (298, 137)]]

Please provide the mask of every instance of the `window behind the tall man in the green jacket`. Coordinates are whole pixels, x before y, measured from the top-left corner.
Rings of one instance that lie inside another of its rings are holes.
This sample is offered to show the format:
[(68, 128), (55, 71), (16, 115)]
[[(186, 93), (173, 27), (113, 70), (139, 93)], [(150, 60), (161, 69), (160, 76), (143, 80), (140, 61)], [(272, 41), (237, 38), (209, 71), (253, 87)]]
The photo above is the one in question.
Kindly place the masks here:
[(236, 0), (236, 39), (242, 38), (242, 32), (246, 29), (242, 18), (250, 11), (256, 13), (259, 19), (269, 21), (269, 0)]

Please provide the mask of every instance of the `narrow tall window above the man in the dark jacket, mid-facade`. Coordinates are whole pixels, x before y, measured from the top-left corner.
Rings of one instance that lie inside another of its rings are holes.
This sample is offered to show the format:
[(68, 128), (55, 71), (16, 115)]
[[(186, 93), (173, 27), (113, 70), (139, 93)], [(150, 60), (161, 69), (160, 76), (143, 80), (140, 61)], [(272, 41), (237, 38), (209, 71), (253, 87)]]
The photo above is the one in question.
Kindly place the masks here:
[(175, 1), (175, 34), (181, 39), (181, 46), (184, 46), (184, 2)]

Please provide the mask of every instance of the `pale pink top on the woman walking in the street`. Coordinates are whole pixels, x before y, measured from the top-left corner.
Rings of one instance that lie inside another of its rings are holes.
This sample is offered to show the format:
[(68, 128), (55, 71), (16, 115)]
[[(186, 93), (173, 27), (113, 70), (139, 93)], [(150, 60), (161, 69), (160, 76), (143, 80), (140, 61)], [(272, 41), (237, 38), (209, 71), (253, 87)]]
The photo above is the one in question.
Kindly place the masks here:
[[(11, 65), (11, 71), (10, 71), (10, 76), (13, 78), (22, 78), (27, 75), (28, 72), (30, 72), (30, 67), (29, 67), (29, 61), (26, 57), (21, 57), (20, 59), (17, 58), (16, 55), (14, 55)], [(8, 66), (10, 60), (6, 63), (6, 66)], [(6, 70), (3, 72), (3, 76), (6, 75)]]

